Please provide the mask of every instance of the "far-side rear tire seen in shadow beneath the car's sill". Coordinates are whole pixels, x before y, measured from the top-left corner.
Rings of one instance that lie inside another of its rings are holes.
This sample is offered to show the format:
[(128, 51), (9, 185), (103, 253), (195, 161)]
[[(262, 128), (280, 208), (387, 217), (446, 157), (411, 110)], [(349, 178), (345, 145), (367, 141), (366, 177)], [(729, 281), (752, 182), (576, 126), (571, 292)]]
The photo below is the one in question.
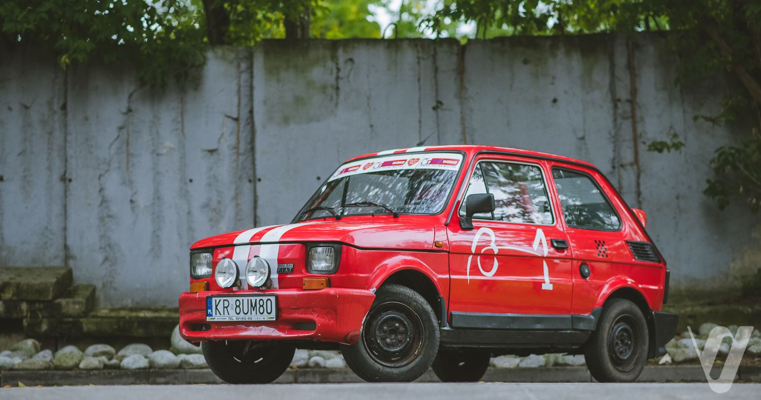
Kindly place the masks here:
[(451, 351), (439, 349), (433, 360), (433, 372), (441, 382), (478, 382), (489, 368), (489, 353), (473, 349)]

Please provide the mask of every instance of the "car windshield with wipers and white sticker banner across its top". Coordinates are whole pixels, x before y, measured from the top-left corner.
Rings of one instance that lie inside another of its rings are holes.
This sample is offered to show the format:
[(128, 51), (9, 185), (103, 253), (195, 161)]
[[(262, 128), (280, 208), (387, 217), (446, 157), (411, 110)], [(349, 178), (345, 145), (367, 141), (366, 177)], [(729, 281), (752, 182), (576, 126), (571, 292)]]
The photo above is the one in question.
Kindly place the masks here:
[[(457, 153), (392, 154), (345, 163), (317, 190), (294, 222), (338, 215), (387, 214), (376, 205), (347, 206), (358, 202), (386, 205), (400, 214), (438, 214), (460, 170)], [(307, 210), (310, 210), (305, 212)]]

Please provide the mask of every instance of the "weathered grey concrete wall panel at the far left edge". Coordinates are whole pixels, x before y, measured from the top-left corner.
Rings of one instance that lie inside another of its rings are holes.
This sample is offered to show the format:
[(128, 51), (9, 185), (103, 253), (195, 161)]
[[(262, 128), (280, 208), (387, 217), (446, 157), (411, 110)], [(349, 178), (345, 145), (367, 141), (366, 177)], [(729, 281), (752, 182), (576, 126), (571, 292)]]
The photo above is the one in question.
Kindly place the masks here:
[(0, 49), (0, 266), (65, 263), (65, 74)]

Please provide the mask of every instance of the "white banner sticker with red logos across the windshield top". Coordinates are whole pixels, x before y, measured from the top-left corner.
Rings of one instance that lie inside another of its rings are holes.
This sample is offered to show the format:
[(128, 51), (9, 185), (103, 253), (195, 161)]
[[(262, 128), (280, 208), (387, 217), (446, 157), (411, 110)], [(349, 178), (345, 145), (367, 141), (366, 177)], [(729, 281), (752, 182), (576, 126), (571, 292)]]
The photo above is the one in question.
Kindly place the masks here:
[(328, 182), (344, 176), (357, 175), (359, 173), (373, 173), (375, 171), (388, 170), (459, 170), (463, 161), (462, 154), (457, 153), (422, 153), (414, 157), (404, 157), (403, 154), (393, 154), (387, 157), (377, 157), (371, 160), (345, 163)]

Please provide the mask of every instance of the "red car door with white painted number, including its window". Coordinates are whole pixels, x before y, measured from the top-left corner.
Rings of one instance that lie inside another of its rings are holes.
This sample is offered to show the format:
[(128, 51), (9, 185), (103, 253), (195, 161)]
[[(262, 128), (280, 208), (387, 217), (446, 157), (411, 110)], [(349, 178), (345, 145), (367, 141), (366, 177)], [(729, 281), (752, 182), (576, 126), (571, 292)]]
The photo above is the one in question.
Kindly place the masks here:
[(447, 226), (454, 327), (510, 327), (479, 325), (480, 316), (470, 314), (570, 312), (571, 250), (552, 247), (552, 239), (562, 247), (567, 238), (547, 182), (543, 161), (489, 156), (473, 163), (460, 200), (491, 193), (495, 211), (474, 215), (473, 230), (463, 230), (457, 218)]

